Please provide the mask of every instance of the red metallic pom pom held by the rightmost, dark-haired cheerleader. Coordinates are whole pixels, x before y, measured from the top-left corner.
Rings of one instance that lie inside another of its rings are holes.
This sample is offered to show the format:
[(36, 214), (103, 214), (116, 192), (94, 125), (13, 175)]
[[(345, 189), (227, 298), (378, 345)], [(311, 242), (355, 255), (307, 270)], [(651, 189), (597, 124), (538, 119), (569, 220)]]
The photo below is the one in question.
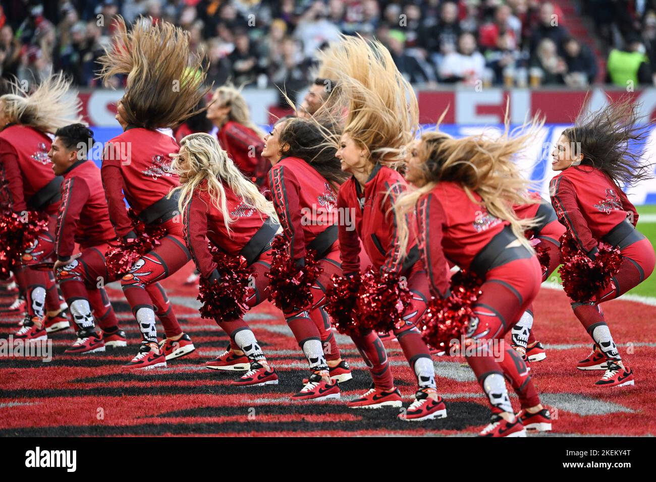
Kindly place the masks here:
[(613, 276), (622, 264), (622, 254), (619, 249), (606, 243), (599, 243), (597, 249), (599, 252), (591, 260), (579, 249), (579, 244), (569, 231), (560, 237), (563, 264), (558, 268), (558, 273), (565, 293), (574, 302), (594, 302), (600, 290), (606, 287), (615, 289)]

